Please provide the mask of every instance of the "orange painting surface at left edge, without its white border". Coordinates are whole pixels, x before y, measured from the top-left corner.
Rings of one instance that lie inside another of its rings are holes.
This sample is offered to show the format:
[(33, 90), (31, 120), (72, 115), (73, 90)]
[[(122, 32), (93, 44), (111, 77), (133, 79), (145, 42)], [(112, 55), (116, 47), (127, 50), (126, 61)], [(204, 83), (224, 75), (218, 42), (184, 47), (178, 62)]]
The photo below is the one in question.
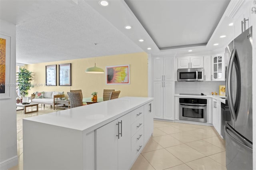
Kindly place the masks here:
[(0, 38), (0, 93), (5, 93), (6, 39)]

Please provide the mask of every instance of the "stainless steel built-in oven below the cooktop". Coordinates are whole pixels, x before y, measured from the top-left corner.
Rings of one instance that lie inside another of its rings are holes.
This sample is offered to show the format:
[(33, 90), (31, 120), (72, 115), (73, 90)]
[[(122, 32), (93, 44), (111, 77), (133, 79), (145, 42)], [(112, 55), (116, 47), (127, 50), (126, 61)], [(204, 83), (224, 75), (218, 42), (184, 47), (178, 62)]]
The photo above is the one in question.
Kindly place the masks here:
[(207, 99), (180, 98), (179, 119), (207, 122)]

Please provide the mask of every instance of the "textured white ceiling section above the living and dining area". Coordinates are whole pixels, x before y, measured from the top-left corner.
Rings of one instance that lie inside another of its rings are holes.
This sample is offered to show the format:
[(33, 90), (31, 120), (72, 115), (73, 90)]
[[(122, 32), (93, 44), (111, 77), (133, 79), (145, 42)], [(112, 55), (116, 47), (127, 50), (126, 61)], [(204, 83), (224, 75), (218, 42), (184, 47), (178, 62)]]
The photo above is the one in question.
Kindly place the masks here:
[(84, 1), (16, 25), (17, 63), (42, 63), (142, 51)]

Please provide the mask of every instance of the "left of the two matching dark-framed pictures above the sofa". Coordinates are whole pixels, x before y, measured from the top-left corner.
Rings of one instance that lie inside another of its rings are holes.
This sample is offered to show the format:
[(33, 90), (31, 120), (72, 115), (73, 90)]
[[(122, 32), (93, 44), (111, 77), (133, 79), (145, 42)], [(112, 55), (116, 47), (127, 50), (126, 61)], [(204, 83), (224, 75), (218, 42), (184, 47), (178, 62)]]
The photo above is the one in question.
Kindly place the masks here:
[(49, 85), (49, 86), (57, 85), (56, 70), (57, 70), (57, 65), (46, 65), (45, 66), (46, 85)]

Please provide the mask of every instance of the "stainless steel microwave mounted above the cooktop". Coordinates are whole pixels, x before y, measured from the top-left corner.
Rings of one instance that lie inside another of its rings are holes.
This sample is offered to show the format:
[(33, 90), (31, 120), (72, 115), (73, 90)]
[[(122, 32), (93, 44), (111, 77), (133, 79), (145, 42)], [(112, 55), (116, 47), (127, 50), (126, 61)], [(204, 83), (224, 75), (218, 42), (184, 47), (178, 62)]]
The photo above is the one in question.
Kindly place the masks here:
[(204, 68), (178, 69), (178, 81), (204, 81)]

